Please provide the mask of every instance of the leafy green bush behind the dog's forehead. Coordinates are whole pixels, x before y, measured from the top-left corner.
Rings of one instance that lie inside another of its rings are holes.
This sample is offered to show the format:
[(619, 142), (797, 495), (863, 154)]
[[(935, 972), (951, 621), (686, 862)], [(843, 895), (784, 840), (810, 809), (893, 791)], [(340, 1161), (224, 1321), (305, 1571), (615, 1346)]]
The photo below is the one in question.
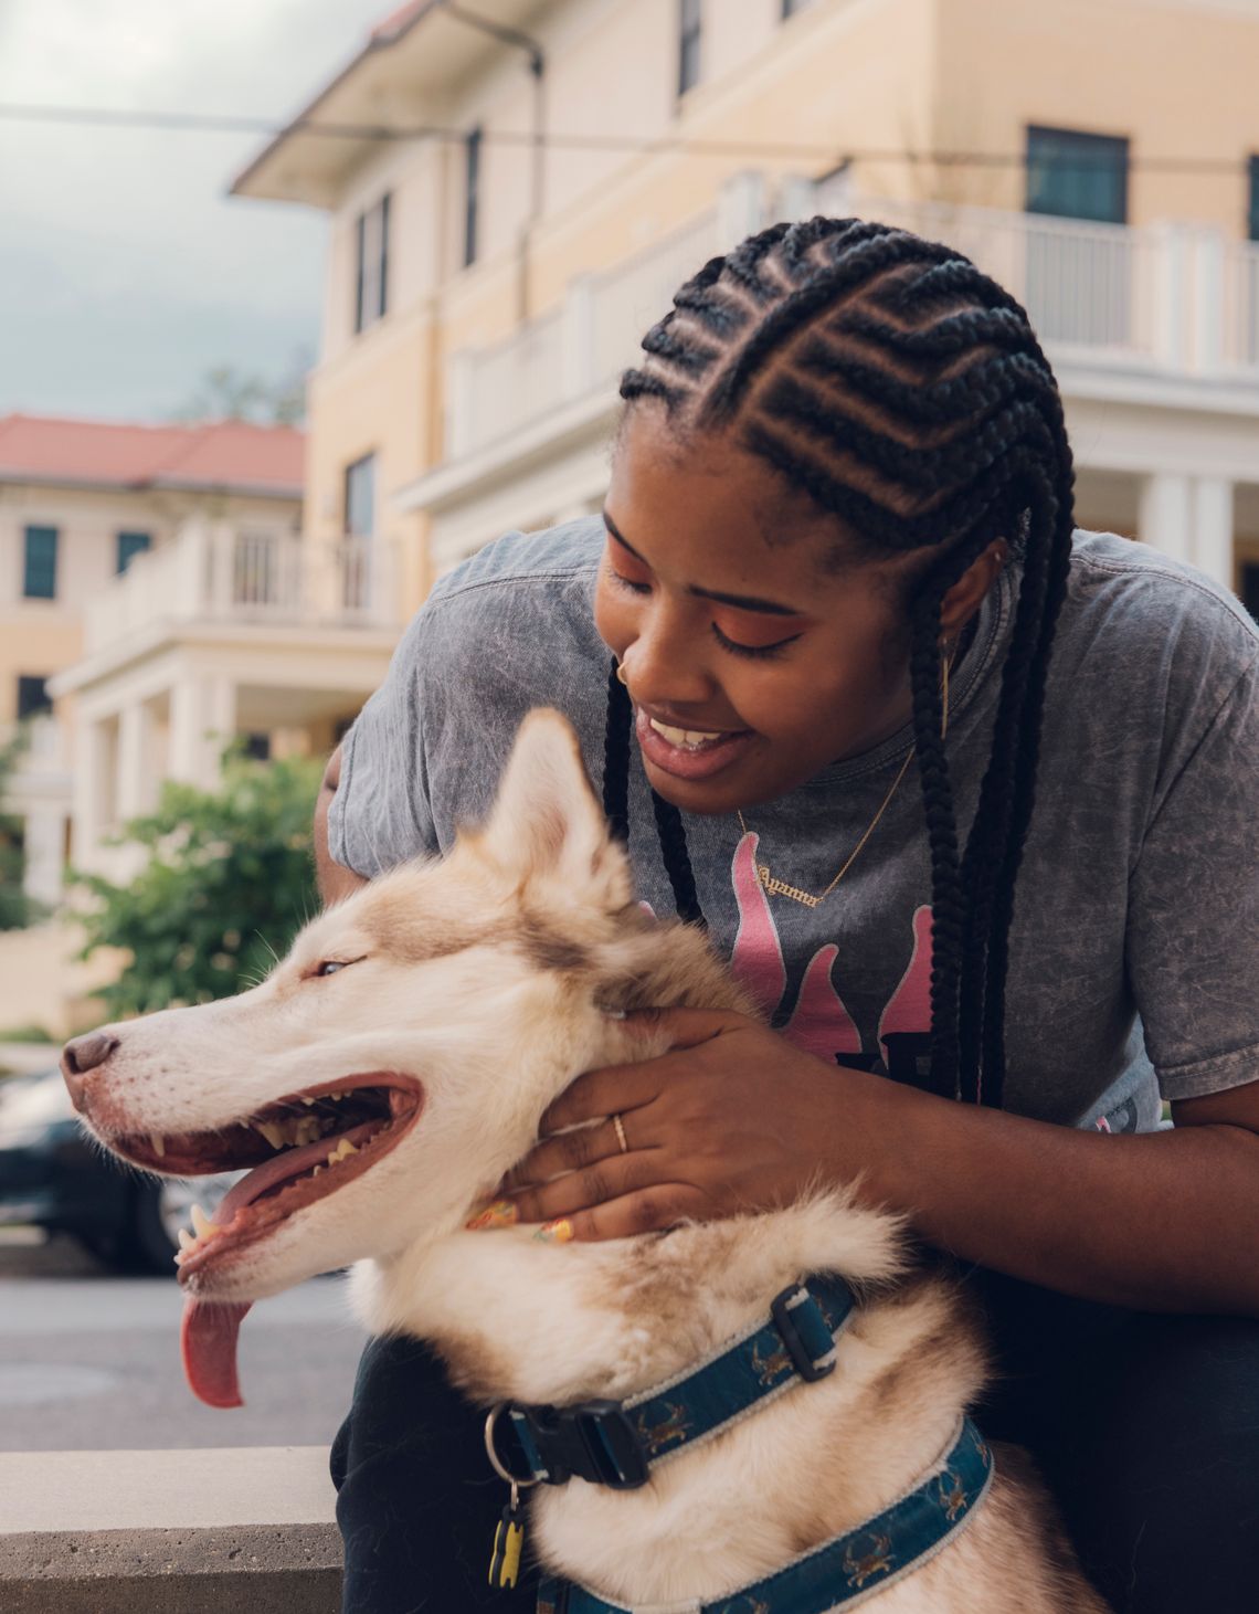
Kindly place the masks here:
[(131, 954), (98, 988), (111, 1018), (229, 997), (260, 980), (318, 907), (312, 815), (315, 759), (223, 759), (223, 784), (166, 783), (157, 812), (132, 818), (113, 844), (148, 854), (134, 880), (74, 875), (89, 894), (82, 957)]

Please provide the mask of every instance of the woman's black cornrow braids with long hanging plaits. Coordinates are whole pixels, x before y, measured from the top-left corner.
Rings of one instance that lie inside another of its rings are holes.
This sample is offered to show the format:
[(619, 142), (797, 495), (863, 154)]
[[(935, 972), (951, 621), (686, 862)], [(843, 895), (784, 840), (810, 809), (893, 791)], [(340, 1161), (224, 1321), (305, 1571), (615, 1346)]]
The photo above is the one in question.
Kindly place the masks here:
[[(843, 521), (841, 558), (933, 557), (906, 602), (931, 859), (931, 1075), (936, 1091), (999, 1106), (1015, 881), (1073, 531), (1062, 402), (1027, 313), (947, 245), (812, 218), (705, 263), (642, 345), (646, 362), (621, 378), (628, 405), (663, 405), (680, 429), (725, 434), (762, 458)], [(960, 851), (941, 610), (994, 539), (1018, 562), (1018, 596)], [(612, 725), (610, 692), (605, 802), (623, 801), (609, 796)], [(623, 731), (628, 746), (628, 720)], [(702, 922), (681, 815), (657, 797), (655, 818), (678, 910)]]

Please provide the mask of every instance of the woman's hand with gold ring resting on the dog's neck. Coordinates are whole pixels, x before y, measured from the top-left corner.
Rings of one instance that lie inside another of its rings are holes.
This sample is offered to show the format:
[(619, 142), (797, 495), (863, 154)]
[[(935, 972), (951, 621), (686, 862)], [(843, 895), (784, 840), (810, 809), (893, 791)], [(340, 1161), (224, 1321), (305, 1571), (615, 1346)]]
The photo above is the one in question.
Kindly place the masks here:
[(834, 1180), (836, 1065), (728, 1010), (630, 1018), (663, 1030), (670, 1051), (591, 1070), (560, 1094), (542, 1141), (502, 1185), (513, 1220), (567, 1219), (560, 1236), (625, 1238), (768, 1210)]

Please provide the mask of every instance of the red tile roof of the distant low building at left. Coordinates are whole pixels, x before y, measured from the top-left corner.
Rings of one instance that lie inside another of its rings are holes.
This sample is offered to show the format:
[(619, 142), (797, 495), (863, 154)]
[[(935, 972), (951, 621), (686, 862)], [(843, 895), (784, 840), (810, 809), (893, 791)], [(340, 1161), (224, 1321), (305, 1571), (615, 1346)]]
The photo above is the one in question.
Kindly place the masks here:
[(119, 426), (0, 415), (0, 483), (189, 487), (302, 497), (305, 434), (294, 426)]

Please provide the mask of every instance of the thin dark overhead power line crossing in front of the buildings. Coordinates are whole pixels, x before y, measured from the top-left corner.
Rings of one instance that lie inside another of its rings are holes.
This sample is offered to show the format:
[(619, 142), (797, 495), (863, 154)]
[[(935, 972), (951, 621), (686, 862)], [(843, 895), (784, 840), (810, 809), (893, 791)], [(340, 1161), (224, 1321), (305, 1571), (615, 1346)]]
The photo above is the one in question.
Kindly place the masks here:
[[(234, 113), (189, 113), (189, 111), (139, 111), (110, 107), (52, 107), (39, 103), (0, 102), (0, 121), (5, 123), (40, 123), (61, 124), (66, 128), (97, 129), (163, 129), (187, 134), (257, 134), (274, 139), (281, 134), (313, 134), (316, 137), (337, 140), (445, 140), (462, 145), (466, 129), (452, 129), (441, 124), (371, 124), (371, 123), (324, 123), (315, 118), (295, 118), (292, 123), (276, 124), (266, 118), (239, 116)], [(688, 136), (659, 136), (650, 139), (634, 139), (618, 134), (533, 134), (528, 129), (484, 129), (481, 134), (484, 145), (547, 148), (554, 152), (626, 152), (631, 155), (650, 155), (654, 152), (680, 152), (692, 157), (762, 157), (776, 161), (801, 163), (910, 163), (939, 168), (1027, 168), (1027, 152), (938, 152), (912, 148), (859, 148), (830, 145), (804, 145), (775, 140), (697, 140)], [(1111, 168), (1107, 158), (1090, 160), (1086, 153), (1056, 157), (1054, 168), (1094, 169)], [(1141, 157), (1128, 160), (1130, 169), (1164, 174), (1241, 174), (1248, 171), (1246, 158), (1215, 157)]]

